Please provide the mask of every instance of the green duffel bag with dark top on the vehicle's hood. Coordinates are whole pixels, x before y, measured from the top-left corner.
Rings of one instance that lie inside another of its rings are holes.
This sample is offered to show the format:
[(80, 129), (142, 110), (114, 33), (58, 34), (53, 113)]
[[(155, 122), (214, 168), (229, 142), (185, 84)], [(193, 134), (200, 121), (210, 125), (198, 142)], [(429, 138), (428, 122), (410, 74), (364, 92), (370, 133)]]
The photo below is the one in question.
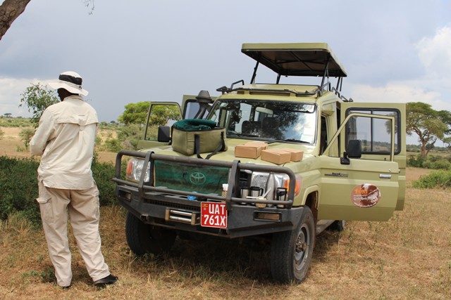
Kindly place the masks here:
[(226, 129), (216, 127), (216, 122), (204, 119), (183, 119), (172, 126), (172, 148), (184, 155), (210, 153), (209, 159), (220, 151), (226, 151)]

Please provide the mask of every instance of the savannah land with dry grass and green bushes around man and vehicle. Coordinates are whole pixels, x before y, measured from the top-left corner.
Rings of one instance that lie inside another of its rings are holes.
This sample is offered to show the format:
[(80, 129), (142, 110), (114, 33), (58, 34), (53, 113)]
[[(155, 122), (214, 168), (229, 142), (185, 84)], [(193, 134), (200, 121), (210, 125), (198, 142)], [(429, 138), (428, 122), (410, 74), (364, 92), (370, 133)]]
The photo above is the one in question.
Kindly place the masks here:
[[(144, 107), (144, 105), (142, 105)], [(125, 111), (127, 107), (125, 107)], [(142, 112), (140, 112), (142, 113)], [(132, 118), (133, 119), (133, 118)], [(145, 121), (144, 121), (145, 122)], [(0, 117), (0, 295), (2, 298), (450, 298), (451, 164), (447, 148), (421, 145), (407, 168), (404, 211), (388, 222), (348, 222), (342, 233), (327, 232), (316, 243), (302, 285), (271, 281), (268, 244), (252, 240), (180, 240), (168, 254), (137, 257), (126, 244), (125, 210), (114, 197), (115, 152), (141, 138), (144, 124), (123, 119), (101, 122), (92, 166), (101, 193), (103, 252), (119, 282), (92, 287), (73, 237), (73, 286), (60, 289), (40, 229), (36, 169), (28, 152), (18, 152), (19, 133), (33, 130), (27, 118)], [(14, 126), (13, 126), (14, 125)], [(444, 133), (443, 138), (445, 138)], [(439, 136), (436, 136), (440, 138)], [(445, 161), (447, 163), (445, 163)], [(420, 163), (421, 162), (421, 163)], [(433, 171), (430, 169), (441, 169)]]

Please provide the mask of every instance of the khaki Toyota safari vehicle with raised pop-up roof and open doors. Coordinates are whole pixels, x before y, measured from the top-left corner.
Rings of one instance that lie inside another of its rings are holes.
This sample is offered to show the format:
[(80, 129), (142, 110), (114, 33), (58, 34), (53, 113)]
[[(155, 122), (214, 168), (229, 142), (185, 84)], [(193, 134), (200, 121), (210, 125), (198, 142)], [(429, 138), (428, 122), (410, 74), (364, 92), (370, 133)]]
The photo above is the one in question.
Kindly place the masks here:
[[(152, 136), (149, 126), (140, 144), (147, 148), (118, 153), (113, 181), (128, 210), (128, 245), (140, 255), (168, 251), (176, 236), (268, 240), (273, 279), (301, 282), (322, 230), (342, 230), (344, 220), (387, 221), (403, 209), (405, 107), (342, 96), (347, 74), (328, 44), (243, 44), (242, 53), (257, 61), (249, 84), (223, 86), (214, 101), (184, 98), (180, 109), (182, 118), (226, 129), (228, 150), (210, 159), (183, 155), (170, 145), (169, 127)], [(260, 65), (276, 72), (275, 83), (256, 83)], [(321, 83), (280, 83), (285, 77)], [(160, 105), (151, 104), (149, 119)], [(249, 141), (304, 157), (281, 165), (235, 157), (235, 147)], [(124, 156), (131, 158), (121, 178)], [(253, 187), (263, 193), (243, 197)]]

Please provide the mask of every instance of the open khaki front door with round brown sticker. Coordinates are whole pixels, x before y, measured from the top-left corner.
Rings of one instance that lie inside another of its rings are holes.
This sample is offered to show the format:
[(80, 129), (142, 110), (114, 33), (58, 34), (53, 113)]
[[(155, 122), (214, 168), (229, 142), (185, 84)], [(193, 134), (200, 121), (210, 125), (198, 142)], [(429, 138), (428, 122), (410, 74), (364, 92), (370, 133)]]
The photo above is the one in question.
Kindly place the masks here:
[[(394, 132), (395, 118), (392, 116), (352, 112), (343, 119), (319, 157), (321, 194), (318, 219), (390, 219), (399, 190), (399, 168), (394, 162)], [(350, 149), (351, 145), (354, 145), (354, 150)], [(356, 145), (362, 150), (356, 151)], [(375, 152), (373, 156), (366, 155), (369, 145)], [(347, 157), (343, 152), (354, 156)], [(361, 157), (356, 152), (361, 152)]]

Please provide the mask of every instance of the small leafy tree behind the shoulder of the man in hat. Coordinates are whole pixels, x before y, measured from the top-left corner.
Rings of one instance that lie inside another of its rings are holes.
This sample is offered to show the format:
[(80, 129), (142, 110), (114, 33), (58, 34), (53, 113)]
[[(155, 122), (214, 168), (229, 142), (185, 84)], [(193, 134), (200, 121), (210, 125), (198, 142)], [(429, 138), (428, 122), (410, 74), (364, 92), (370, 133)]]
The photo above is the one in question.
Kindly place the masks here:
[(59, 98), (56, 96), (55, 91), (48, 89), (47, 86), (39, 84), (30, 84), (20, 95), (20, 105), (28, 107), (28, 111), (33, 113), (31, 122), (37, 127), (42, 112), (52, 104), (58, 103)]

